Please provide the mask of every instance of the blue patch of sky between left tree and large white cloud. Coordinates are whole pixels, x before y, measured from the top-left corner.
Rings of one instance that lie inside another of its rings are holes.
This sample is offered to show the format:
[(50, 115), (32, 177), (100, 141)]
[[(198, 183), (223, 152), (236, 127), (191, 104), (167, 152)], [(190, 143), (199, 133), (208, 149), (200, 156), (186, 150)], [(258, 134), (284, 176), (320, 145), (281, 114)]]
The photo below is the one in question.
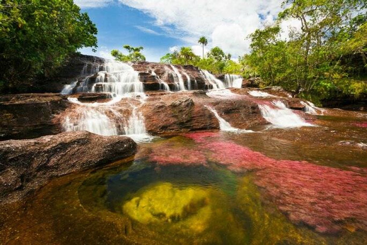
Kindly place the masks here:
[(165, 36), (151, 23), (154, 19), (142, 11), (124, 4), (113, 3), (103, 7), (82, 8), (88, 12), (98, 28), (98, 52), (84, 48), (81, 53), (109, 57), (110, 50), (123, 50), (124, 44), (143, 46), (149, 61), (159, 61), (170, 52), (170, 47), (182, 46), (181, 40)]

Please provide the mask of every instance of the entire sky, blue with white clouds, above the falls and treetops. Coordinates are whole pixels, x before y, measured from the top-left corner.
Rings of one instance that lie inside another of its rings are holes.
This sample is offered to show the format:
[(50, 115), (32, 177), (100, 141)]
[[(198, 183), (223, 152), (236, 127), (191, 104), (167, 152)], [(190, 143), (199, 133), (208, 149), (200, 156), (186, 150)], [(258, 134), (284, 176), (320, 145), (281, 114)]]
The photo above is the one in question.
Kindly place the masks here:
[[(143, 46), (147, 61), (179, 47), (192, 47), (202, 54), (197, 43), (208, 39), (206, 50), (219, 46), (233, 58), (249, 52), (246, 38), (265, 23), (274, 21), (283, 0), (74, 0), (87, 12), (98, 28), (98, 49), (80, 50), (83, 54), (111, 58), (112, 49), (124, 44)], [(287, 32), (286, 22), (283, 26)]]

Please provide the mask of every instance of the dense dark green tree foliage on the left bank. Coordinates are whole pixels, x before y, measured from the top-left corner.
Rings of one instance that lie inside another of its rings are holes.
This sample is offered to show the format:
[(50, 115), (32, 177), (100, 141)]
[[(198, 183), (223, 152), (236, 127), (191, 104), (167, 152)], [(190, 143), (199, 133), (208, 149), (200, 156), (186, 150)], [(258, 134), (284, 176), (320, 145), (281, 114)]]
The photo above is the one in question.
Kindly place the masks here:
[(96, 34), (73, 0), (1, 1), (0, 91), (21, 91), (50, 76), (78, 48), (96, 48)]

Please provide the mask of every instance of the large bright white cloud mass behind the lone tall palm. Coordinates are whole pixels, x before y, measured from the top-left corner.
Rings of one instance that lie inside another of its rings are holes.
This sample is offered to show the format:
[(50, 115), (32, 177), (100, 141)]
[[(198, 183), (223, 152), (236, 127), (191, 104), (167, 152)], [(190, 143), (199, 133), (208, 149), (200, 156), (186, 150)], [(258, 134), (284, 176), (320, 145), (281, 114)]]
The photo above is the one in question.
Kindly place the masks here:
[[(171, 37), (182, 40), (199, 52), (197, 40), (204, 35), (208, 46), (221, 47), (234, 57), (248, 52), (245, 38), (264, 22), (272, 22), (283, 0), (119, 0), (155, 19)], [(198, 46), (198, 47), (196, 47)]]

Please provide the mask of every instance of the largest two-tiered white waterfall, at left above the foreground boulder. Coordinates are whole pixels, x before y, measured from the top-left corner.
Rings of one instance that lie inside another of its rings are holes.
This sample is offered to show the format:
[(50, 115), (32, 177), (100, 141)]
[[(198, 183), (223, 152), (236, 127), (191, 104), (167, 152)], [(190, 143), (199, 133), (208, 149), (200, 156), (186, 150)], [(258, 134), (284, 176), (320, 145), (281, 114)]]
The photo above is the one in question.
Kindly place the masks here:
[[(102, 103), (82, 103), (77, 98), (69, 97), (70, 102), (80, 107), (64, 118), (62, 123), (64, 130), (87, 130), (105, 136), (120, 135), (125, 131), (126, 136), (131, 136), (137, 141), (149, 141), (152, 137), (146, 133), (144, 117), (138, 112), (138, 107), (133, 106), (132, 114), (127, 121), (114, 107), (114, 104), (122, 98), (139, 99), (143, 103), (146, 95), (143, 83), (139, 80), (139, 73), (131, 66), (117, 61), (106, 62), (95, 66), (95, 69), (98, 69), (97, 76), (95, 74), (87, 76), (76, 91), (109, 93), (112, 100)], [(83, 72), (86, 71), (87, 68), (83, 68)], [(75, 86), (77, 82), (65, 86), (63, 91), (70, 94)]]

